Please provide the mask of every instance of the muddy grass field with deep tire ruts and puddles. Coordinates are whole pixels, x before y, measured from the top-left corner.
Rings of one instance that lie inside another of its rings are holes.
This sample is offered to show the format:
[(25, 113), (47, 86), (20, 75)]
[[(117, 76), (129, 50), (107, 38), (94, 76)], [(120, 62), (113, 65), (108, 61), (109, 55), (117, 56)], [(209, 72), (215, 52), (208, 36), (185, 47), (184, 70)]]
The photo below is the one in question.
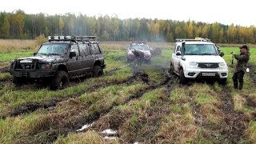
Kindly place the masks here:
[[(14, 86), (6, 71), (8, 58), (1, 61), (0, 143), (256, 142), (255, 58), (244, 90), (238, 91), (232, 67), (225, 86), (180, 85), (169, 73), (171, 50), (163, 49), (135, 70), (126, 62), (126, 50), (118, 47), (102, 46), (105, 75), (74, 79), (58, 91), (39, 84)], [(222, 50), (230, 63), (231, 48)]]

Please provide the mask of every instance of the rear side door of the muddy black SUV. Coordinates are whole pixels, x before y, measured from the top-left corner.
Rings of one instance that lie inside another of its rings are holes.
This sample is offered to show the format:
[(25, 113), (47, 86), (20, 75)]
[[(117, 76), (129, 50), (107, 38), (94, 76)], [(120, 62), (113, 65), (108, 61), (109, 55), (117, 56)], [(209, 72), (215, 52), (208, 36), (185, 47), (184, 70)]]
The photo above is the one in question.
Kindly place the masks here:
[(82, 57), (82, 71), (83, 73), (88, 73), (93, 70), (94, 58), (90, 54), (89, 43), (79, 43), (79, 50)]

